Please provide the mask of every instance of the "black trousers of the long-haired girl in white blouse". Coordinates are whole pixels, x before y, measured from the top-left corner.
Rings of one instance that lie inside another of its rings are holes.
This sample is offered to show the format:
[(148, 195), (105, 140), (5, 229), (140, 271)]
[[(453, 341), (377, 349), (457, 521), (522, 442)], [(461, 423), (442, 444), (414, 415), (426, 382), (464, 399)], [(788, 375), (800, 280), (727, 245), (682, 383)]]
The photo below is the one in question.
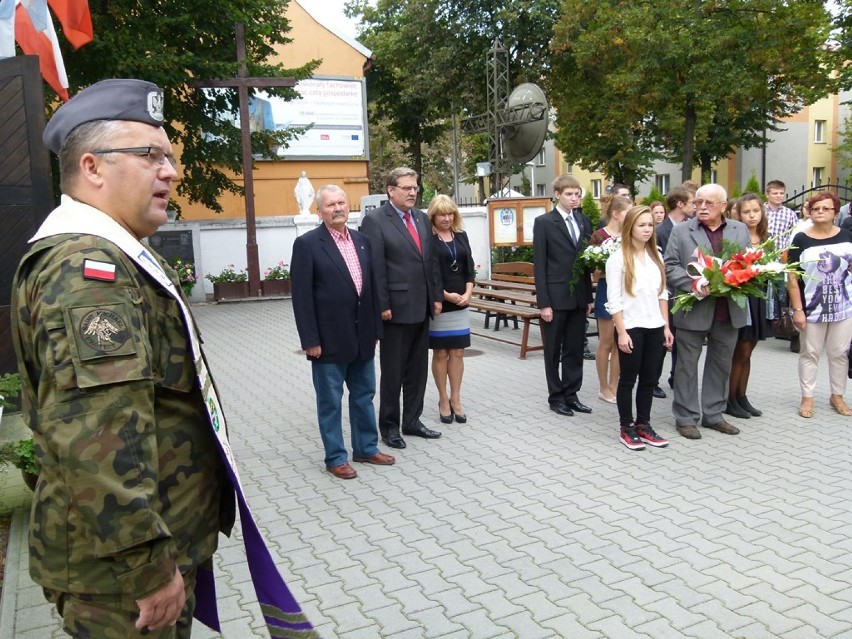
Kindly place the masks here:
[[(633, 422), (633, 386), (637, 377), (636, 423), (651, 423), (651, 404), (654, 401), (654, 386), (659, 379), (660, 359), (666, 352), (665, 330), (658, 328), (629, 328), (627, 334), (633, 340), (633, 352), (618, 351), (621, 374), (615, 401), (618, 404), (618, 420), (622, 426)], [(616, 341), (618, 337), (616, 336)]]

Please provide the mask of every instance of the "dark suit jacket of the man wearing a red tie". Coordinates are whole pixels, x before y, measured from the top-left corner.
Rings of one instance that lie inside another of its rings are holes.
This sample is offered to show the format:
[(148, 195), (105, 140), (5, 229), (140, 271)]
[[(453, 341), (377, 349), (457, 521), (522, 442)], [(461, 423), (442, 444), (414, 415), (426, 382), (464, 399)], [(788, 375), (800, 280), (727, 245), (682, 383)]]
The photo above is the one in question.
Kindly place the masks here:
[(420, 209), (411, 209), (422, 254), (390, 202), (361, 220), (370, 238), (379, 310), (390, 309), (393, 324), (417, 324), (432, 317), (434, 302), (443, 299), (441, 276), (433, 258), (432, 225)]

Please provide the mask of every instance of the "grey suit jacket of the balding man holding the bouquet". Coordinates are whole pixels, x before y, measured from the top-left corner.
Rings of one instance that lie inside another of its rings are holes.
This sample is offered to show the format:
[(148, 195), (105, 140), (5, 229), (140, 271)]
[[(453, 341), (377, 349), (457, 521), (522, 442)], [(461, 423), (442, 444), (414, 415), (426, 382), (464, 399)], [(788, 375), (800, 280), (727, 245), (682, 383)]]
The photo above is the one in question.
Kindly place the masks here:
[[(740, 248), (749, 245), (750, 237), (748, 228), (742, 222), (727, 220), (722, 231), (722, 239), (733, 242)], [(692, 291), (692, 277), (686, 272), (686, 267), (693, 262), (697, 256), (698, 249), (702, 251), (710, 249), (710, 240), (704, 227), (698, 223), (698, 218), (681, 222), (672, 229), (669, 243), (666, 247), (666, 280), (669, 290), (675, 294)], [(712, 251), (711, 251), (712, 252)], [(676, 328), (685, 328), (692, 331), (709, 330), (713, 324), (713, 313), (716, 308), (715, 297), (706, 297), (700, 300), (691, 311), (682, 310), (674, 313)], [(730, 298), (727, 300), (728, 311), (731, 314), (731, 324), (734, 328), (741, 328), (748, 321), (748, 311), (737, 306)]]

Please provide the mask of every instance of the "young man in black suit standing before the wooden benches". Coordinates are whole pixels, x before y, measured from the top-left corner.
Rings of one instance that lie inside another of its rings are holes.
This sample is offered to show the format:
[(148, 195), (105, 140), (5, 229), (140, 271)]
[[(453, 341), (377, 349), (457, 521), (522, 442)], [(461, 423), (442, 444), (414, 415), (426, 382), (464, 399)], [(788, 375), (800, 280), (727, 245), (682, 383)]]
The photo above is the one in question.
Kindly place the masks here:
[(544, 371), (548, 404), (559, 415), (591, 413), (577, 393), (583, 385), (583, 336), (592, 310), (592, 280), (579, 275), (572, 284), (574, 261), (588, 243), (592, 222), (580, 207), (580, 183), (563, 175), (553, 182), (556, 208), (536, 218), (535, 290), (541, 309)]

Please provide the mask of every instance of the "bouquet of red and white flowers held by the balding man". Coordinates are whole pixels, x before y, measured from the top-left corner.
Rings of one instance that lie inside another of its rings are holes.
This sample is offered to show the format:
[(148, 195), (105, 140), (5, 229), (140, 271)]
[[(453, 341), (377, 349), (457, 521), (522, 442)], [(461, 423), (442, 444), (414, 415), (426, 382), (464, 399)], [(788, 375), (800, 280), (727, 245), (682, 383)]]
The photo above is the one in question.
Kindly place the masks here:
[(766, 299), (767, 287), (783, 286), (786, 274), (795, 272), (798, 266), (782, 262), (782, 253), (775, 238), (745, 250), (724, 242), (721, 257), (698, 249), (695, 261), (686, 267), (692, 277), (692, 292), (675, 296), (672, 311), (692, 310), (703, 299), (699, 291), (704, 286), (710, 290), (710, 297), (729, 297), (740, 308), (745, 308), (749, 297)]

